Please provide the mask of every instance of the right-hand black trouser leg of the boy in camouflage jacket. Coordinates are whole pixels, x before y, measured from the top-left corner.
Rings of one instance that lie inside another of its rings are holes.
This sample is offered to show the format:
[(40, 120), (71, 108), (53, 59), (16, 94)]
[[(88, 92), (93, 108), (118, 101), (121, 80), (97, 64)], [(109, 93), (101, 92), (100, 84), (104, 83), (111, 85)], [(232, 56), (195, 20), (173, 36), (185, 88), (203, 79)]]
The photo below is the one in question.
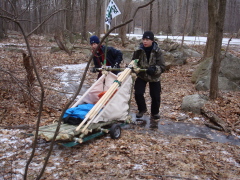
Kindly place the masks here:
[(159, 114), (159, 108), (161, 103), (161, 84), (158, 82), (149, 82), (150, 96), (152, 98), (151, 114)]

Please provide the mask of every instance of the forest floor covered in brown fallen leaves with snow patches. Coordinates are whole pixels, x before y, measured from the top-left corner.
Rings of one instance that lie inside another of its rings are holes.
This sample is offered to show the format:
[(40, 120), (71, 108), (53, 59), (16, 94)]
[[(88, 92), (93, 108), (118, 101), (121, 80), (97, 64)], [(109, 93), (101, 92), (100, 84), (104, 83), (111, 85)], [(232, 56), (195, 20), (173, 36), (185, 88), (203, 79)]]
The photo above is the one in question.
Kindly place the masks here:
[[(32, 133), (37, 121), (40, 89), (35, 82), (32, 95), (25, 88), (25, 71), (22, 65), (21, 39), (6, 39), (0, 46), (0, 179), (21, 179), (26, 161), (32, 151)], [(7, 45), (8, 44), (8, 45)], [(16, 45), (18, 44), (18, 45)], [(46, 38), (33, 36), (30, 40), (36, 65), (45, 90), (41, 125), (50, 124), (60, 116), (67, 96), (58, 92), (59, 80), (49, 68), (64, 64), (86, 63), (83, 51), (71, 56), (65, 52), (50, 53), (55, 45)], [(84, 45), (82, 45), (84, 46)], [(86, 46), (87, 48), (87, 46)], [(121, 47), (119, 47), (121, 49)], [(202, 52), (203, 46), (193, 47)], [(39, 50), (41, 49), (41, 50)], [(239, 48), (230, 51), (240, 56)], [(161, 119), (204, 126), (209, 120), (181, 110), (186, 95), (204, 94), (195, 90), (191, 75), (199, 58), (189, 58), (183, 66), (173, 66), (162, 74)], [(61, 69), (56, 69), (61, 71)], [(89, 72), (86, 84), (91, 85), (96, 74)], [(220, 92), (219, 98), (209, 101), (205, 108), (226, 122), (231, 134), (239, 138), (240, 92)], [(149, 95), (146, 93), (148, 107)], [(31, 100), (29, 102), (29, 100)], [(132, 113), (136, 104), (132, 99)], [(183, 118), (184, 117), (184, 118)], [(215, 130), (209, 130), (215, 131)], [(224, 133), (226, 136), (229, 133)], [(39, 139), (35, 156), (29, 166), (28, 179), (36, 179), (49, 143)], [(54, 145), (43, 179), (233, 179), (240, 177), (240, 148), (230, 143), (212, 142), (205, 138), (186, 135), (167, 135), (157, 128), (130, 124), (122, 130), (118, 140), (109, 136), (94, 139), (73, 148)]]

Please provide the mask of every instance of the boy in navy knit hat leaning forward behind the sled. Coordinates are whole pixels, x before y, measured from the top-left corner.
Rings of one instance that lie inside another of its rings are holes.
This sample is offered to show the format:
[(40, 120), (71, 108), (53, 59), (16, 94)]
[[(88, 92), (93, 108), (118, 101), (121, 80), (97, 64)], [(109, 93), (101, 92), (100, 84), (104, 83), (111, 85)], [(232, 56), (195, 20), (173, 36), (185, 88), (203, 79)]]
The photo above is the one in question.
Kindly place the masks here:
[[(90, 37), (90, 44), (92, 47), (92, 52), (97, 48), (100, 43), (99, 38), (97, 36)], [(96, 72), (96, 68), (101, 68), (104, 59), (105, 59), (105, 49), (106, 46), (101, 45), (99, 49), (96, 51), (96, 54), (93, 57), (94, 68), (92, 72)], [(111, 66), (112, 68), (120, 68), (120, 63), (122, 61), (122, 52), (113, 47), (107, 47), (107, 57), (106, 57), (106, 66)], [(113, 71), (114, 74), (117, 74), (117, 71)], [(102, 73), (99, 72), (98, 78), (101, 77)]]

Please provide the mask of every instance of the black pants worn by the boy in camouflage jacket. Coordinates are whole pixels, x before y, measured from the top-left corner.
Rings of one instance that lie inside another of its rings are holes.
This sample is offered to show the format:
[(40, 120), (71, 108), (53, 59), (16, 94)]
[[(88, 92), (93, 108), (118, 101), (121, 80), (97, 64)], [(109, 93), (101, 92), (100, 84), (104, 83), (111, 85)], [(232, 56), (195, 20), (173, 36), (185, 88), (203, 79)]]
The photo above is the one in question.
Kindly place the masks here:
[[(134, 89), (135, 89), (135, 100), (138, 106), (138, 111), (144, 111), (147, 109), (144, 93), (146, 90), (146, 85), (148, 82), (142, 80), (141, 78), (137, 78), (135, 81)], [(161, 103), (161, 83), (158, 82), (149, 82), (149, 90), (150, 96), (152, 99), (151, 103), (151, 114), (158, 114), (160, 103)]]

